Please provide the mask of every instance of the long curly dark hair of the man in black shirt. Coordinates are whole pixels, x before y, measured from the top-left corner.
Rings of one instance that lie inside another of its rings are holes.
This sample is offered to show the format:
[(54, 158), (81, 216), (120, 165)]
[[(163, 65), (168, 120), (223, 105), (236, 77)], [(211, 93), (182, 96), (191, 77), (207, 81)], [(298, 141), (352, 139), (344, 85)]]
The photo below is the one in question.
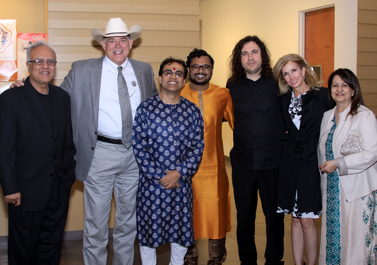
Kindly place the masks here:
[(261, 49), (261, 55), (262, 55), (261, 74), (264, 75), (266, 80), (268, 80), (268, 78), (270, 77), (273, 77), (270, 51), (268, 51), (266, 45), (264, 44), (263, 41), (261, 41), (261, 39), (258, 36), (253, 35), (253, 36), (246, 36), (242, 40), (238, 41), (236, 46), (234, 46), (232, 55), (230, 55), (228, 59), (230, 83), (236, 83), (236, 82), (241, 83), (241, 79), (246, 76), (245, 70), (241, 64), (241, 52), (245, 44), (249, 43), (250, 41), (254, 41)]

